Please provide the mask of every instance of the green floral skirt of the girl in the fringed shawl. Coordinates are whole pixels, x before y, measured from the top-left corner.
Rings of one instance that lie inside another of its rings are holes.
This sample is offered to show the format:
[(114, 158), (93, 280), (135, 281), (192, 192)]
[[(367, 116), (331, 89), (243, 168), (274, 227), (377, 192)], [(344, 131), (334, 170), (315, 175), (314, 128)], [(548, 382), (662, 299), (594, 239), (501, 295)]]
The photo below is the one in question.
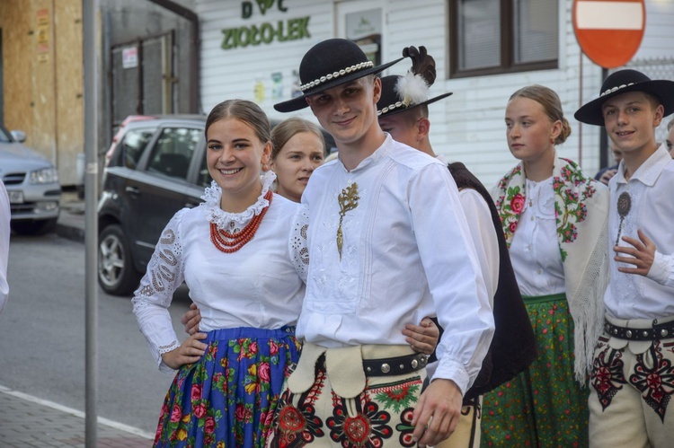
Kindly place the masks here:
[(573, 320), (565, 294), (525, 297), (538, 357), (483, 397), (482, 446), (588, 446), (588, 387), (573, 373)]

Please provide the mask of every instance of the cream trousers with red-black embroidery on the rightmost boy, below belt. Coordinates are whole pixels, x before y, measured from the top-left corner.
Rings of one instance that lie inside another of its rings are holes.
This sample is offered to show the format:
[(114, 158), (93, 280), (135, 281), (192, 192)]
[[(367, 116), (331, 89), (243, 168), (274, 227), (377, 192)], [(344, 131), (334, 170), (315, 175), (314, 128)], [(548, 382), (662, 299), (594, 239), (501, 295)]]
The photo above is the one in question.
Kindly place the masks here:
[(674, 340), (654, 340), (643, 353), (599, 338), (590, 378), (590, 446), (671, 446)]

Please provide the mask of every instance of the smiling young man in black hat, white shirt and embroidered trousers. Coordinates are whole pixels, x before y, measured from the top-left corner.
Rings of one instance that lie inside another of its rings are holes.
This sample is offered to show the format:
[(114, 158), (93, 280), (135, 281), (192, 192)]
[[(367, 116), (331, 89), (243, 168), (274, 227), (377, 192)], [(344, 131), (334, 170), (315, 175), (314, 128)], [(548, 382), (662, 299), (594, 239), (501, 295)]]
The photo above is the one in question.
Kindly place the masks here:
[[(302, 59), (304, 95), (274, 106), (310, 106), (339, 159), (314, 172), (298, 214), (292, 246), (308, 267), (297, 321), (304, 346), (272, 446), (437, 444), (457, 425), (492, 338), (454, 180), (377, 123), (374, 75), (386, 66), (373, 66), (349, 40), (324, 40)], [(421, 393), (426, 359), (400, 333), (404, 322), (436, 312), (446, 331)]]

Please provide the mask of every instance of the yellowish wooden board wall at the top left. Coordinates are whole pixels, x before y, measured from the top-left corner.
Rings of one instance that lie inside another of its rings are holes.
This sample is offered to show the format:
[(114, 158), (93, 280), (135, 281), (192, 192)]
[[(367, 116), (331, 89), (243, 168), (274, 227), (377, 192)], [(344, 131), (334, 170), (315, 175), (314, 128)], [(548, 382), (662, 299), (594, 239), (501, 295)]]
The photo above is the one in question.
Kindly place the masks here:
[(82, 2), (3, 0), (4, 121), (74, 184), (84, 151)]

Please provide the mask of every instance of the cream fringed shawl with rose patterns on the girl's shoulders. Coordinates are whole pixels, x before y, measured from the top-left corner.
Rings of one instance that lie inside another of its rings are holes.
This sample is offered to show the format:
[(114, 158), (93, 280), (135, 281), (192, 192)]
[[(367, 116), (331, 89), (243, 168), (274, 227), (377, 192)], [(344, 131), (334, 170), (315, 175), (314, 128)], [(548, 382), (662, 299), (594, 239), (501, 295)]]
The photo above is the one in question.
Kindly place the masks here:
[[(510, 248), (525, 203), (522, 163), (506, 174), (492, 197)], [(604, 321), (608, 283), (608, 189), (570, 160), (554, 158), (554, 215), (562, 254), (566, 299), (573, 324), (574, 373), (585, 384)]]

